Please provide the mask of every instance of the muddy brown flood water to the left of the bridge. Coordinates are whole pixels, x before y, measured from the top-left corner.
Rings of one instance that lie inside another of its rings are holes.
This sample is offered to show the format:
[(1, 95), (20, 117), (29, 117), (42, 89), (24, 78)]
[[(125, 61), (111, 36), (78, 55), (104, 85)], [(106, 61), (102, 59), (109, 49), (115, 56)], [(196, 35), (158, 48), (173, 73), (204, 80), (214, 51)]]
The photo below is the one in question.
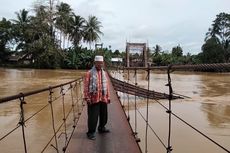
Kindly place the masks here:
[[(27, 92), (36, 89), (42, 89), (49, 86), (65, 83), (83, 76), (84, 71), (74, 70), (35, 70), (35, 69), (2, 69), (0, 68), (0, 97), (10, 96), (18, 94), (20, 92)], [(67, 91), (69, 86), (64, 87), (64, 92)], [(76, 94), (79, 92), (79, 87), (76, 88)], [(60, 96), (61, 89), (54, 90), (53, 98)], [(48, 104), (48, 92), (36, 94), (35, 96), (29, 96), (25, 98), (25, 119), (29, 118), (35, 112), (39, 111), (43, 106)], [(65, 95), (65, 113), (70, 110), (71, 96), (70, 92)], [(76, 101), (76, 99), (74, 99)], [(68, 103), (67, 103), (68, 102)], [(0, 137), (4, 136), (10, 130), (14, 129), (20, 119), (20, 104), (19, 100), (15, 100), (8, 103), (0, 104)], [(63, 107), (62, 98), (59, 98), (53, 102), (55, 128), (63, 122)], [(67, 120), (68, 133), (72, 131), (73, 115), (70, 114), (69, 120)], [(63, 126), (64, 127), (64, 126)], [(53, 136), (52, 120), (51, 120), (51, 108), (48, 105), (43, 111), (34, 116), (26, 123), (25, 127), (26, 143), (28, 153), (40, 153), (48, 141)], [(58, 135), (59, 150), (62, 150), (65, 140), (64, 134), (60, 130)], [(68, 135), (69, 136), (69, 135)], [(55, 145), (55, 142), (51, 142)], [(9, 135), (4, 140), (0, 141), (0, 153), (23, 153), (23, 139), (21, 128), (18, 128), (13, 134)], [(45, 153), (54, 153), (56, 150), (50, 145), (44, 151)]]

